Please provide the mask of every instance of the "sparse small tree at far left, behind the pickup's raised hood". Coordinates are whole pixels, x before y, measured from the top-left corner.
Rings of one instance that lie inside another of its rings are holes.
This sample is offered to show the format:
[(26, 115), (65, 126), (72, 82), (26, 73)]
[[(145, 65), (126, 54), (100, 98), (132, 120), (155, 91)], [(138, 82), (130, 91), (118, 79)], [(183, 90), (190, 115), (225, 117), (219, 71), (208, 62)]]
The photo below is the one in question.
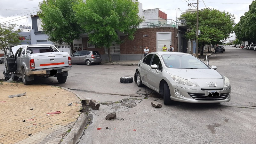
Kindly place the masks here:
[(0, 24), (0, 50), (5, 52), (5, 49), (10, 45), (17, 45), (20, 43), (19, 32), (14, 30), (17, 24)]

